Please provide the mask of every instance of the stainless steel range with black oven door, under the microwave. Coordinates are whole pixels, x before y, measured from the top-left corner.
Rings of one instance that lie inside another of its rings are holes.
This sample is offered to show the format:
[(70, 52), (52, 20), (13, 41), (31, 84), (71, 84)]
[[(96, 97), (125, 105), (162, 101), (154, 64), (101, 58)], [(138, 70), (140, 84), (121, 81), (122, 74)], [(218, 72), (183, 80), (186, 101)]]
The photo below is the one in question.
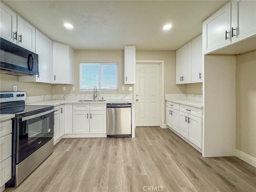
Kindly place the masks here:
[(12, 178), (6, 187), (18, 186), (53, 152), (53, 106), (25, 105), (25, 92), (0, 92), (0, 113), (12, 119)]

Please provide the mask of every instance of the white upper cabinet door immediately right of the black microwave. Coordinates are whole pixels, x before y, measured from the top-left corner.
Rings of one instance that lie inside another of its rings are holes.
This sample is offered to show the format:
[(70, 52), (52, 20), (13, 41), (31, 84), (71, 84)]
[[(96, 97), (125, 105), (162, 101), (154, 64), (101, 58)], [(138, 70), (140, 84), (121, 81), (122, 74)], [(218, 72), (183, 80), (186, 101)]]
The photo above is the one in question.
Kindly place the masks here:
[(38, 76), (36, 82), (52, 83), (52, 40), (36, 30), (36, 54), (38, 54)]

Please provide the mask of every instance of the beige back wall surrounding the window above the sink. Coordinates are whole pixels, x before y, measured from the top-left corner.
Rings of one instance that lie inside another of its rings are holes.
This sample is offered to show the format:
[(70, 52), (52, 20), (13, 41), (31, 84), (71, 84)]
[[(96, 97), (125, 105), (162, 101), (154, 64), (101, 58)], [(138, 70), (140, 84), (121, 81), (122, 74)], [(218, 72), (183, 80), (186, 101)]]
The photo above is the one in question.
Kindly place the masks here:
[[(54, 85), (54, 94), (92, 94), (88, 91), (79, 90), (79, 64), (80, 62), (118, 62), (118, 91), (101, 91), (101, 94), (132, 94), (124, 85), (124, 50), (74, 50), (74, 85)], [(63, 91), (66, 86), (66, 91)], [(72, 87), (76, 90), (73, 91)], [(125, 90), (122, 91), (122, 86)], [(133, 87), (133, 86), (132, 86)]]

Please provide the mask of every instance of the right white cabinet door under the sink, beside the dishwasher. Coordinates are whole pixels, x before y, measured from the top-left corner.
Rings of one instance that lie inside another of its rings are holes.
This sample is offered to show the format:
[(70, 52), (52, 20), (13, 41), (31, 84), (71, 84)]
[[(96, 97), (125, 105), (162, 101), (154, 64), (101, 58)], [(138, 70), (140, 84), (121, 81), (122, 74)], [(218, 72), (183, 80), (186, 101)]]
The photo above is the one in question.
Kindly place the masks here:
[(106, 111), (90, 111), (90, 133), (107, 133)]

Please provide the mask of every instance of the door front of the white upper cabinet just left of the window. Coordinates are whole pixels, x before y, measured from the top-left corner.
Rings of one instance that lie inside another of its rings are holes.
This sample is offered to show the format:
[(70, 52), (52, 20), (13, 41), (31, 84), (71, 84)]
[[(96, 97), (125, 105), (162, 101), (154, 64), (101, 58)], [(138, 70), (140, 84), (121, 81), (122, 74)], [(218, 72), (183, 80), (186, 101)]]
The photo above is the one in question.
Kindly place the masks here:
[(52, 83), (68, 84), (69, 75), (68, 46), (52, 42)]

